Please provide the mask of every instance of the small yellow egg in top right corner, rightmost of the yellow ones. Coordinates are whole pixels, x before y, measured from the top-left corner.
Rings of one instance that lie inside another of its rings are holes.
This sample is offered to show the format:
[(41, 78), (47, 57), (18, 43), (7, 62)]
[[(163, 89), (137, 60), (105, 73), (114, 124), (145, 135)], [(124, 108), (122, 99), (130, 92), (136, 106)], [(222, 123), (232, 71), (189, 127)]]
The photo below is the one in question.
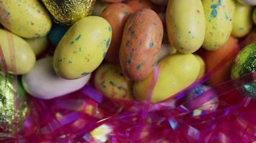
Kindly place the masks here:
[(252, 29), (252, 6), (245, 6), (235, 2), (232, 36), (240, 38), (247, 35)]

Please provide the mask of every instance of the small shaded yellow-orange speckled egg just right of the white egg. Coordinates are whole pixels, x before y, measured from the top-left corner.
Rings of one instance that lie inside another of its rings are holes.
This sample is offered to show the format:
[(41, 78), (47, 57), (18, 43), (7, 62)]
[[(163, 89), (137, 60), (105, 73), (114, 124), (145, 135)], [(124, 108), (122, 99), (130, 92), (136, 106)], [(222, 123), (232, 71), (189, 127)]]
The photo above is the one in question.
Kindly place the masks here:
[(132, 81), (124, 75), (118, 64), (101, 64), (96, 71), (94, 83), (96, 89), (107, 97), (133, 99)]

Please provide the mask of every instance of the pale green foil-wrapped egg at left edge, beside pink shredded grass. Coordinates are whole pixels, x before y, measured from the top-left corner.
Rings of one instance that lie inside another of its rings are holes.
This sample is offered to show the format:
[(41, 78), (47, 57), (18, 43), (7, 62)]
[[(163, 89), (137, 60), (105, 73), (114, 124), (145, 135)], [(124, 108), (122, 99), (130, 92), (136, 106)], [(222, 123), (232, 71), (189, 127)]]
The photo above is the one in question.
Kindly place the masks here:
[(19, 132), (27, 117), (27, 98), (17, 77), (0, 72), (0, 142)]

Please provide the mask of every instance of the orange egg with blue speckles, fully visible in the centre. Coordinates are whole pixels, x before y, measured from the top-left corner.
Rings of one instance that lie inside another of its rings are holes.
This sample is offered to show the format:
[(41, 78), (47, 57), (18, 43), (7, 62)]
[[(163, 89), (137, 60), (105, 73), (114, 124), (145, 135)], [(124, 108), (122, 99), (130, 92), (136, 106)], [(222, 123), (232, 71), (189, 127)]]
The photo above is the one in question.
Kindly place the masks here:
[(157, 64), (163, 39), (163, 24), (155, 11), (141, 9), (130, 16), (124, 27), (119, 60), (127, 76), (145, 79)]

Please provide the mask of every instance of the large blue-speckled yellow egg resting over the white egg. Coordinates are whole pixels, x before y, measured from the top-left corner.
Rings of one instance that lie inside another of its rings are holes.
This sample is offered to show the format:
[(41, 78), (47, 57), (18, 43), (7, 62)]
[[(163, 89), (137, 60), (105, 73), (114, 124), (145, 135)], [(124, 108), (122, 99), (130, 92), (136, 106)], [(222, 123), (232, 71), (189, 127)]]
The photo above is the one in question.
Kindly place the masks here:
[(106, 56), (111, 26), (100, 16), (85, 17), (68, 29), (55, 49), (53, 66), (65, 79), (78, 79), (94, 71)]

